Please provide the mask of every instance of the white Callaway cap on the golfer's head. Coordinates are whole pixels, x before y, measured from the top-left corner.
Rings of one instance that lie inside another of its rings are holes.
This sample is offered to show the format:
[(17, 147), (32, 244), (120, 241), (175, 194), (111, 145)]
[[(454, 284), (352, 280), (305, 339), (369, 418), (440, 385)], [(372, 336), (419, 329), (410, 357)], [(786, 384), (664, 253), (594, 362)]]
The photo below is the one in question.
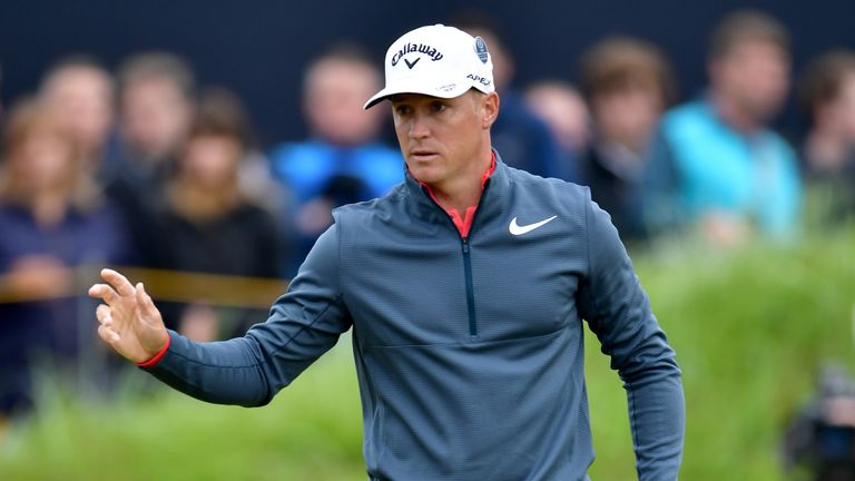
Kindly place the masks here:
[(386, 87), (365, 102), (368, 109), (395, 94), (454, 98), (476, 88), (494, 90), (493, 60), (481, 37), (435, 24), (404, 33), (386, 51)]

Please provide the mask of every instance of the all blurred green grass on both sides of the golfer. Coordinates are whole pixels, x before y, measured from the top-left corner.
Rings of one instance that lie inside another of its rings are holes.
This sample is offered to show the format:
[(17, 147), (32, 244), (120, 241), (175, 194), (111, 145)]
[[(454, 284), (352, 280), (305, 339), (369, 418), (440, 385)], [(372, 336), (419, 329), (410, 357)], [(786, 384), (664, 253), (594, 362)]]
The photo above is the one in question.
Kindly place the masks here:
[[(855, 372), (853, 234), (635, 259), (684, 371), (681, 479), (785, 479), (780, 433), (816, 372), (827, 361)], [(0, 441), (0, 479), (363, 480), (348, 341), (264, 409), (208, 405), (161, 389), (111, 402), (46, 396), (40, 415)], [(591, 477), (635, 479), (626, 396), (592, 335), (587, 375), (598, 453)]]

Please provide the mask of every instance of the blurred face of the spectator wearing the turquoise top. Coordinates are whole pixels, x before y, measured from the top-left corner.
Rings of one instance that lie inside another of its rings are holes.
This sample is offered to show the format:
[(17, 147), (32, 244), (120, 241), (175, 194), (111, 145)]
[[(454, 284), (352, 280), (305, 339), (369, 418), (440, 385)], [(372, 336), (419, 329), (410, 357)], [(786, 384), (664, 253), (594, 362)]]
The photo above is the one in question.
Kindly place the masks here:
[(745, 114), (766, 121), (789, 90), (789, 57), (776, 43), (744, 39), (710, 66), (712, 88)]

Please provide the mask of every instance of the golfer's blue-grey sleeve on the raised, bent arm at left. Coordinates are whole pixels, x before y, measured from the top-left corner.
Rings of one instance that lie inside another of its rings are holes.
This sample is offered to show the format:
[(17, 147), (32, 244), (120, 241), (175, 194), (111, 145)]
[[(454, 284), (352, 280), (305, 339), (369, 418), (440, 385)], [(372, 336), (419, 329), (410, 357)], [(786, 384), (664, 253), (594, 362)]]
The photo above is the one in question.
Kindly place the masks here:
[(146, 371), (193, 397), (258, 406), (335, 345), (352, 324), (338, 282), (338, 227), (315, 243), (266, 322), (243, 337), (196, 343), (170, 331), (161, 360)]

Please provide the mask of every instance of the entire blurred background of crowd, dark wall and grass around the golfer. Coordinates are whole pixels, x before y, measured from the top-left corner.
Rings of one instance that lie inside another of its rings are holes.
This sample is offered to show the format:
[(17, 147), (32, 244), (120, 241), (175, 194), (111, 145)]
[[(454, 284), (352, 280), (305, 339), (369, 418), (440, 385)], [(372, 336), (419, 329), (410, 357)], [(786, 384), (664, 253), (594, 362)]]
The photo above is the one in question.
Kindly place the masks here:
[[(335, 206), (403, 178), (386, 47), (487, 40), (510, 165), (588, 185), (684, 370), (682, 477), (855, 479), (855, 2), (0, 6), (0, 479), (364, 479), (350, 340), (268, 408), (95, 338), (104, 265), (199, 341), (263, 321)], [(598, 459), (633, 479), (588, 338)]]

